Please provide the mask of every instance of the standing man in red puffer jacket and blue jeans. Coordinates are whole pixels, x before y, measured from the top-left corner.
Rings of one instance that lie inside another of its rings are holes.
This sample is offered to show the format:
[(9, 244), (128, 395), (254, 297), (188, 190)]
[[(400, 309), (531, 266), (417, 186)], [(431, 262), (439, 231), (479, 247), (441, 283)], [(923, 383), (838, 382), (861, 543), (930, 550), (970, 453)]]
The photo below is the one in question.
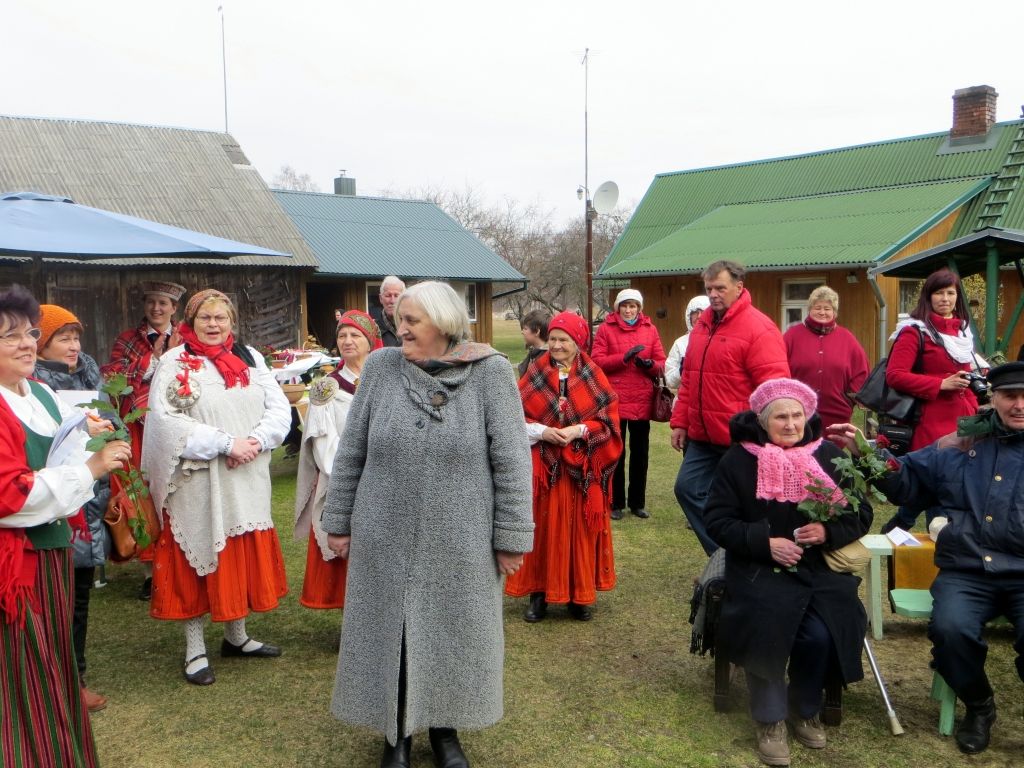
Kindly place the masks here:
[(782, 333), (751, 303), (745, 270), (716, 261), (701, 276), (711, 306), (690, 333), (679, 397), (672, 411), (672, 447), (685, 451), (676, 499), (705, 552), (718, 545), (705, 529), (712, 477), (729, 447), (729, 419), (746, 411), (751, 392), (769, 379), (790, 378)]

